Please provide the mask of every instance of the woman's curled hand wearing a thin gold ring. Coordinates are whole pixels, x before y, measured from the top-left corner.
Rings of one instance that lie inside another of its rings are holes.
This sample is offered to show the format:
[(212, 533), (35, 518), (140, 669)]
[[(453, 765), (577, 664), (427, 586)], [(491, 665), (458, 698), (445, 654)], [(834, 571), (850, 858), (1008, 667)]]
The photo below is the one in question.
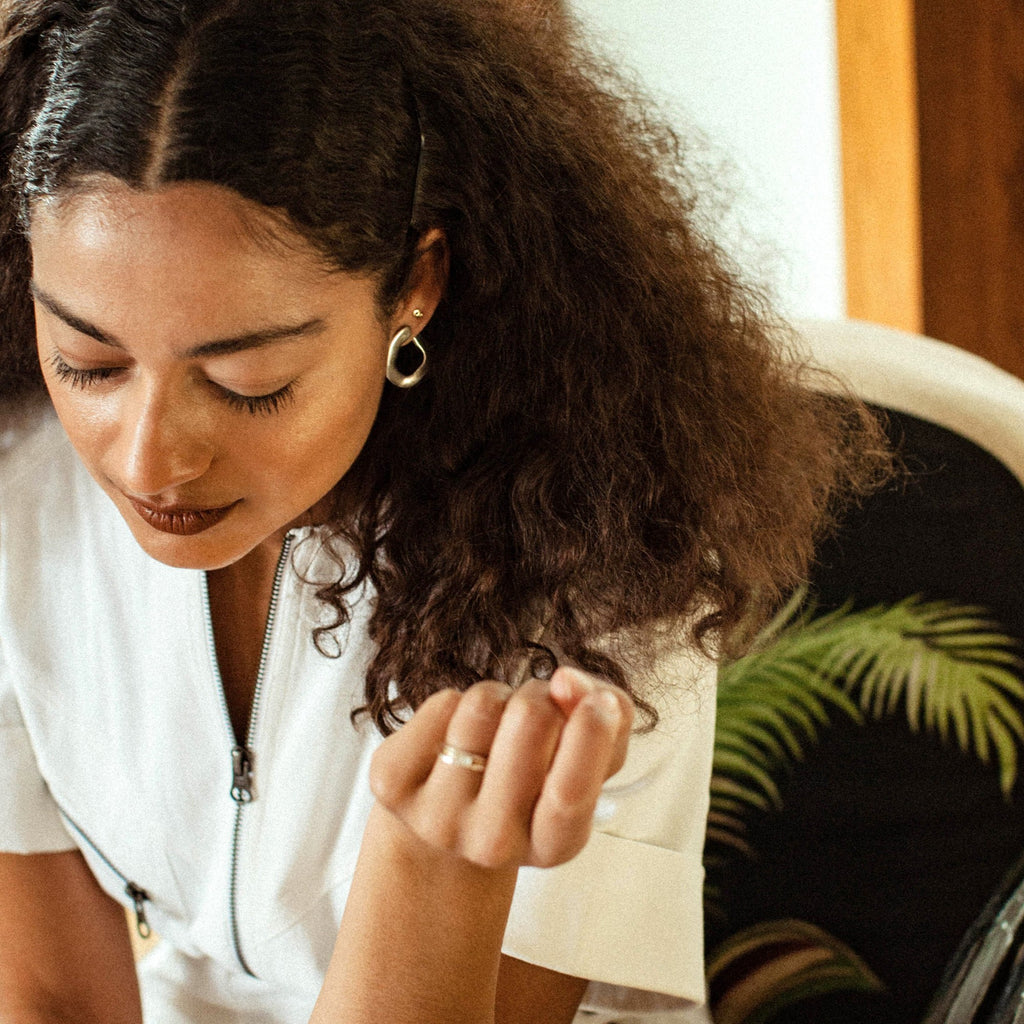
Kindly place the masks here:
[[(378, 802), (419, 839), (485, 868), (550, 867), (586, 844), (601, 786), (623, 765), (633, 705), (573, 669), (513, 690), (442, 690), (378, 750)], [(484, 759), (473, 770), (443, 748)]]

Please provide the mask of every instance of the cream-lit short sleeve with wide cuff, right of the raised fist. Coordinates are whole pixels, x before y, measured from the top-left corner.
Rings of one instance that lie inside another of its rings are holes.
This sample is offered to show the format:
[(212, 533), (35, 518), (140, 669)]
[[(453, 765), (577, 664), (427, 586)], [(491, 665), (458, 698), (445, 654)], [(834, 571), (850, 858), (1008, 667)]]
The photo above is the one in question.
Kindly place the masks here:
[(715, 667), (684, 651), (659, 675), (667, 683), (654, 700), (659, 722), (632, 737), (626, 765), (602, 792), (590, 841), (566, 864), (520, 870), (505, 933), (507, 954), (603, 983), (592, 993), (615, 986), (620, 1006), (622, 989), (705, 998)]

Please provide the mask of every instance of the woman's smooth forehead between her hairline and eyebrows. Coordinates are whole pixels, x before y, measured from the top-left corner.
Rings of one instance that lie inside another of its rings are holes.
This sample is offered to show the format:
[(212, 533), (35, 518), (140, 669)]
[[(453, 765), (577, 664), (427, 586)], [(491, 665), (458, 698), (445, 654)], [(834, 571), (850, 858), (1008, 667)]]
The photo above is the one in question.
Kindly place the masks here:
[(305, 323), (373, 301), (366, 276), (326, 273), (308, 247), (254, 238), (247, 227), (254, 206), (199, 183), (79, 189), (36, 211), (34, 286), (76, 316), (126, 336), (148, 316), (173, 322), (182, 336), (202, 325), (205, 337)]

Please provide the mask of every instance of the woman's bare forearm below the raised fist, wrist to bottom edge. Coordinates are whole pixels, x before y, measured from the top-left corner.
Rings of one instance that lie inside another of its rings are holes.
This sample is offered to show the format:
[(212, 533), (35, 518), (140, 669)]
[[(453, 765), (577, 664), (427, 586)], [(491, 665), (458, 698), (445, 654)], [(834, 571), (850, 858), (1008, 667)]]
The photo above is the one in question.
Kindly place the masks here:
[(375, 807), (311, 1024), (489, 1024), (515, 879)]

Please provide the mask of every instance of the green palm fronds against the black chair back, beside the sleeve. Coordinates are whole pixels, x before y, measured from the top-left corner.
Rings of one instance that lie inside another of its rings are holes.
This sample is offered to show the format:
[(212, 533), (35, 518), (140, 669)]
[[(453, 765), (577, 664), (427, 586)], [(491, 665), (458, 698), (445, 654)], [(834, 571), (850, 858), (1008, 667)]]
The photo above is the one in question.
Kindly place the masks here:
[(822, 615), (797, 591), (719, 673), (712, 809), (729, 815), (712, 844), (744, 844), (737, 822), (780, 805), (776, 779), (836, 715), (862, 721), (902, 706), (909, 728), (995, 761), (1009, 794), (1024, 742), (1015, 642), (981, 608), (907, 598)]

